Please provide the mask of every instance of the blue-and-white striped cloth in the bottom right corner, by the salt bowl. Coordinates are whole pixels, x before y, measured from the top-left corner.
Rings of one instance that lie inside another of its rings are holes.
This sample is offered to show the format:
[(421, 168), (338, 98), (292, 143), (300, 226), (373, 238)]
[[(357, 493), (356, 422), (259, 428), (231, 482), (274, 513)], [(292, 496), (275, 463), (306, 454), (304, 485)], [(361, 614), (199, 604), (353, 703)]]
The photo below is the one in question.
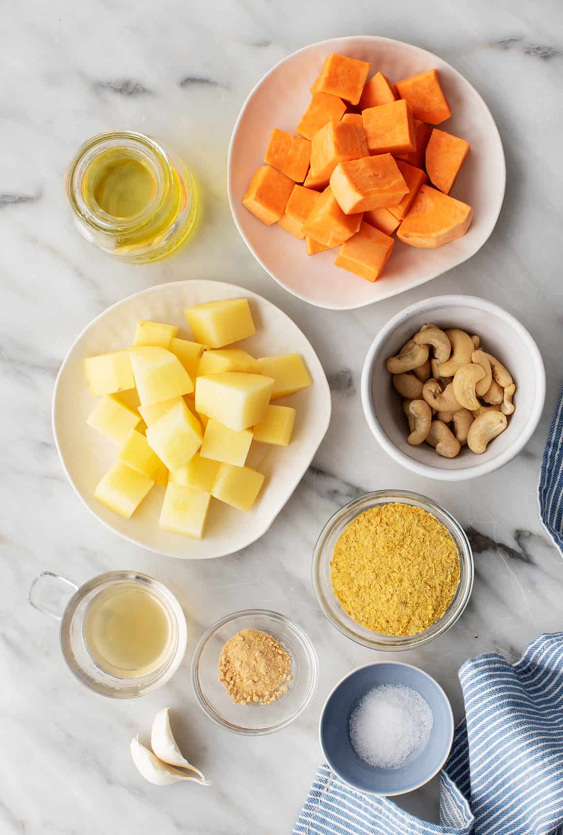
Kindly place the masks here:
[(485, 653), (459, 670), (465, 719), (441, 772), (440, 823), (319, 768), (294, 835), (562, 835), (563, 632), (520, 661)]

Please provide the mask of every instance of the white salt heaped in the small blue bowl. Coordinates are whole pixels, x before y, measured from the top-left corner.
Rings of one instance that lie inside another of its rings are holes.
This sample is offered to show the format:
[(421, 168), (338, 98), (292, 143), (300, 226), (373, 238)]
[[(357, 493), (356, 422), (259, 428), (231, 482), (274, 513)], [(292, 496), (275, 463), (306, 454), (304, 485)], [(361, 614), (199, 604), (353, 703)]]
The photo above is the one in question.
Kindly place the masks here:
[(401, 684), (373, 687), (350, 717), (354, 751), (374, 768), (398, 768), (429, 741), (434, 716), (420, 693)]

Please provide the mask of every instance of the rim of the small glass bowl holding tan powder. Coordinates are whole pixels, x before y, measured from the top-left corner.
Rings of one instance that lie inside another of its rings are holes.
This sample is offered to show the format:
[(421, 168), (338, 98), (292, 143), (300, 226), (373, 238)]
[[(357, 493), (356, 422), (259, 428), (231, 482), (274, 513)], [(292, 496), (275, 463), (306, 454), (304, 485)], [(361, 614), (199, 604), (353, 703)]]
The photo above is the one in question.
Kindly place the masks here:
[[(200, 658), (201, 653), (204, 650), (204, 647), (207, 641), (210, 639), (212, 635), (216, 633), (218, 629), (221, 629), (221, 626), (224, 626), (231, 622), (231, 620), (236, 620), (236, 618), (240, 617), (250, 617), (251, 615), (266, 615), (267, 617), (271, 618), (272, 620), (276, 620), (278, 622), (283, 623), (286, 626), (289, 626), (290, 629), (293, 630), (294, 634), (297, 636), (297, 639), (301, 642), (303, 649), (305, 650), (305, 654), (309, 660), (309, 672), (311, 676), (311, 682), (307, 689), (307, 693), (299, 706), (297, 706), (296, 710), (292, 712), (290, 716), (287, 716), (287, 719), (283, 721), (276, 722), (274, 725), (269, 725), (263, 728), (246, 728), (241, 725), (236, 725), (234, 722), (230, 722), (225, 719), (221, 714), (219, 714), (214, 708), (212, 708), (209, 702), (205, 698), (205, 694), (200, 687), (200, 681), (198, 676), (198, 670), (200, 665)], [(191, 676), (191, 685), (194, 690), (195, 699), (198, 702), (201, 710), (205, 713), (205, 716), (208, 716), (211, 721), (214, 721), (216, 725), (219, 725), (222, 728), (226, 728), (227, 731), (231, 731), (232, 733), (240, 734), (241, 736), (266, 736), (271, 733), (275, 733), (276, 731), (282, 731), (283, 728), (291, 725), (292, 721), (297, 719), (297, 716), (301, 716), (302, 712), (307, 708), (310, 704), (312, 697), (317, 690), (317, 683), (318, 683), (318, 656), (317, 650), (315, 649), (315, 645), (313, 644), (307, 632), (303, 629), (301, 625), (299, 625), (295, 620), (292, 618), (288, 618), (287, 615), (282, 615), (282, 612), (276, 612), (271, 609), (241, 609), (237, 612), (232, 612), (231, 615), (224, 615), (219, 620), (212, 625), (210, 625), (209, 629), (205, 630), (204, 634), (201, 635), (200, 640), (197, 643), (197, 646), (194, 650), (194, 655), (191, 659), (191, 666), (190, 666), (190, 676)]]

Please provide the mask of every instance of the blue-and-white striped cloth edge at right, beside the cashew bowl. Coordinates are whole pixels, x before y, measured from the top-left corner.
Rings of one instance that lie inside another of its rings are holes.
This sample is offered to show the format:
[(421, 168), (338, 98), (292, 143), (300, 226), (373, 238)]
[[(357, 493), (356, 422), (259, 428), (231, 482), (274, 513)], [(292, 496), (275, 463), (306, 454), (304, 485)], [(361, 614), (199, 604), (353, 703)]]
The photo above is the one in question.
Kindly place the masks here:
[(563, 390), (541, 458), (538, 511), (551, 539), (563, 553)]

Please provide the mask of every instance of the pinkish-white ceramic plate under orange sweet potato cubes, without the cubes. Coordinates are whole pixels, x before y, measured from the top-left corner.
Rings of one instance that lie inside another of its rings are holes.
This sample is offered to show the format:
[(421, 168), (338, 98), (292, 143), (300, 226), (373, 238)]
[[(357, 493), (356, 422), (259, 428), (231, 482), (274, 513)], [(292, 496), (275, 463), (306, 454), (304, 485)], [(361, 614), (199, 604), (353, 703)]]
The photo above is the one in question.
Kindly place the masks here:
[[(374, 284), (334, 266), (337, 250), (308, 256), (305, 244), (278, 225), (266, 226), (241, 204), (251, 175), (262, 164), (273, 128), (295, 132), (311, 99), (309, 87), (329, 53), (361, 58), (398, 81), (436, 68), (452, 108), (439, 125), (471, 143), (452, 196), (469, 203), (474, 220), (463, 238), (435, 250), (418, 250), (397, 240), (393, 256)], [(241, 109), (231, 137), (228, 189), (231, 211), (243, 240), (261, 266), (294, 296), (319, 307), (349, 310), (396, 296), (441, 275), (473, 256), (489, 237), (505, 196), (505, 154), (499, 131), (483, 99), (442, 58), (389, 38), (335, 38), (284, 58), (256, 84)]]

